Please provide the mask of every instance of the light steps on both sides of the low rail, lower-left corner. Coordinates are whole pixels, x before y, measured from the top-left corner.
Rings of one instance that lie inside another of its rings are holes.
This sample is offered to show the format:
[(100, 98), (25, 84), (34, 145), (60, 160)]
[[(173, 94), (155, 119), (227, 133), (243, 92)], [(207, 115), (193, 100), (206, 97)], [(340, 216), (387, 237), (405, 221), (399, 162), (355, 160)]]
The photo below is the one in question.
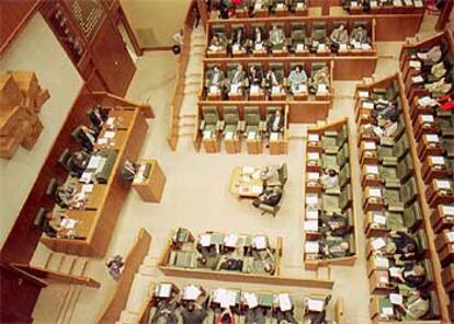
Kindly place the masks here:
[[(38, 248), (31, 265), (64, 274), (84, 276), (88, 259), (64, 253)], [(52, 284), (44, 288), (38, 297), (32, 317), (34, 323), (70, 323), (77, 301), (83, 286)]]

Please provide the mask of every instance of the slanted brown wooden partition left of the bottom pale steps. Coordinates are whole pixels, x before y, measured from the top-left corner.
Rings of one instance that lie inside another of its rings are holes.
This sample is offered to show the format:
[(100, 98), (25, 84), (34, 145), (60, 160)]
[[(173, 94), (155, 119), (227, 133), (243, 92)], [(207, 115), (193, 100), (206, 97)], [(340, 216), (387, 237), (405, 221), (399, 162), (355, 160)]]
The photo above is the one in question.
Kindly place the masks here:
[(99, 316), (98, 323), (115, 323), (118, 321), (122, 311), (126, 306), (134, 277), (145, 256), (148, 254), (150, 244), (150, 234), (145, 229), (140, 229), (136, 243), (126, 256), (125, 266), (118, 284), (115, 287), (115, 292), (112, 294), (106, 306)]

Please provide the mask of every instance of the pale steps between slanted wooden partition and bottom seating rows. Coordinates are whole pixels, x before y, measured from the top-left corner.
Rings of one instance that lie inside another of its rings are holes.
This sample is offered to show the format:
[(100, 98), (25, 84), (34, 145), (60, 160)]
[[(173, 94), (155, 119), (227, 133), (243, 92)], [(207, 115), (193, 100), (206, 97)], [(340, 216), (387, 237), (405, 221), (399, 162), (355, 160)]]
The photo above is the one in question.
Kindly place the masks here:
[(116, 324), (138, 323), (141, 310), (149, 300), (149, 288), (158, 275), (157, 257), (147, 255), (134, 277), (126, 308)]

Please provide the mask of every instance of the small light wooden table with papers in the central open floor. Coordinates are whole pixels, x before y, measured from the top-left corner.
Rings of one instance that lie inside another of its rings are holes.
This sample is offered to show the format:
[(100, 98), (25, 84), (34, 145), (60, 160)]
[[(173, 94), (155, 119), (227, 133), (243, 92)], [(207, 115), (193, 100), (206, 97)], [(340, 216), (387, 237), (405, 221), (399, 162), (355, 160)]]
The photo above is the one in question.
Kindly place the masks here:
[[(261, 172), (261, 167), (252, 167), (252, 173)], [(243, 167), (237, 166), (231, 172), (228, 190), (239, 197), (256, 198), (263, 192), (263, 178), (252, 178), (250, 172), (243, 177)]]

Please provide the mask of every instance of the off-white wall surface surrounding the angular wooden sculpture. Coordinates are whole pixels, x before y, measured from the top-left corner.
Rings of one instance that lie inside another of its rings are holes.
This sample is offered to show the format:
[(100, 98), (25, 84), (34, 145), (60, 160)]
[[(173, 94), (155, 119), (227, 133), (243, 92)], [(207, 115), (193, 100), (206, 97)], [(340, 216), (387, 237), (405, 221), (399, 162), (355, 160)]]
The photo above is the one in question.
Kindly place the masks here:
[(49, 90), (50, 99), (39, 114), (44, 129), (35, 147), (31, 151), (21, 147), (11, 160), (0, 159), (0, 246), (14, 224), (83, 84), (41, 14), (35, 14), (0, 57), (0, 71), (7, 70), (34, 71), (41, 86)]

